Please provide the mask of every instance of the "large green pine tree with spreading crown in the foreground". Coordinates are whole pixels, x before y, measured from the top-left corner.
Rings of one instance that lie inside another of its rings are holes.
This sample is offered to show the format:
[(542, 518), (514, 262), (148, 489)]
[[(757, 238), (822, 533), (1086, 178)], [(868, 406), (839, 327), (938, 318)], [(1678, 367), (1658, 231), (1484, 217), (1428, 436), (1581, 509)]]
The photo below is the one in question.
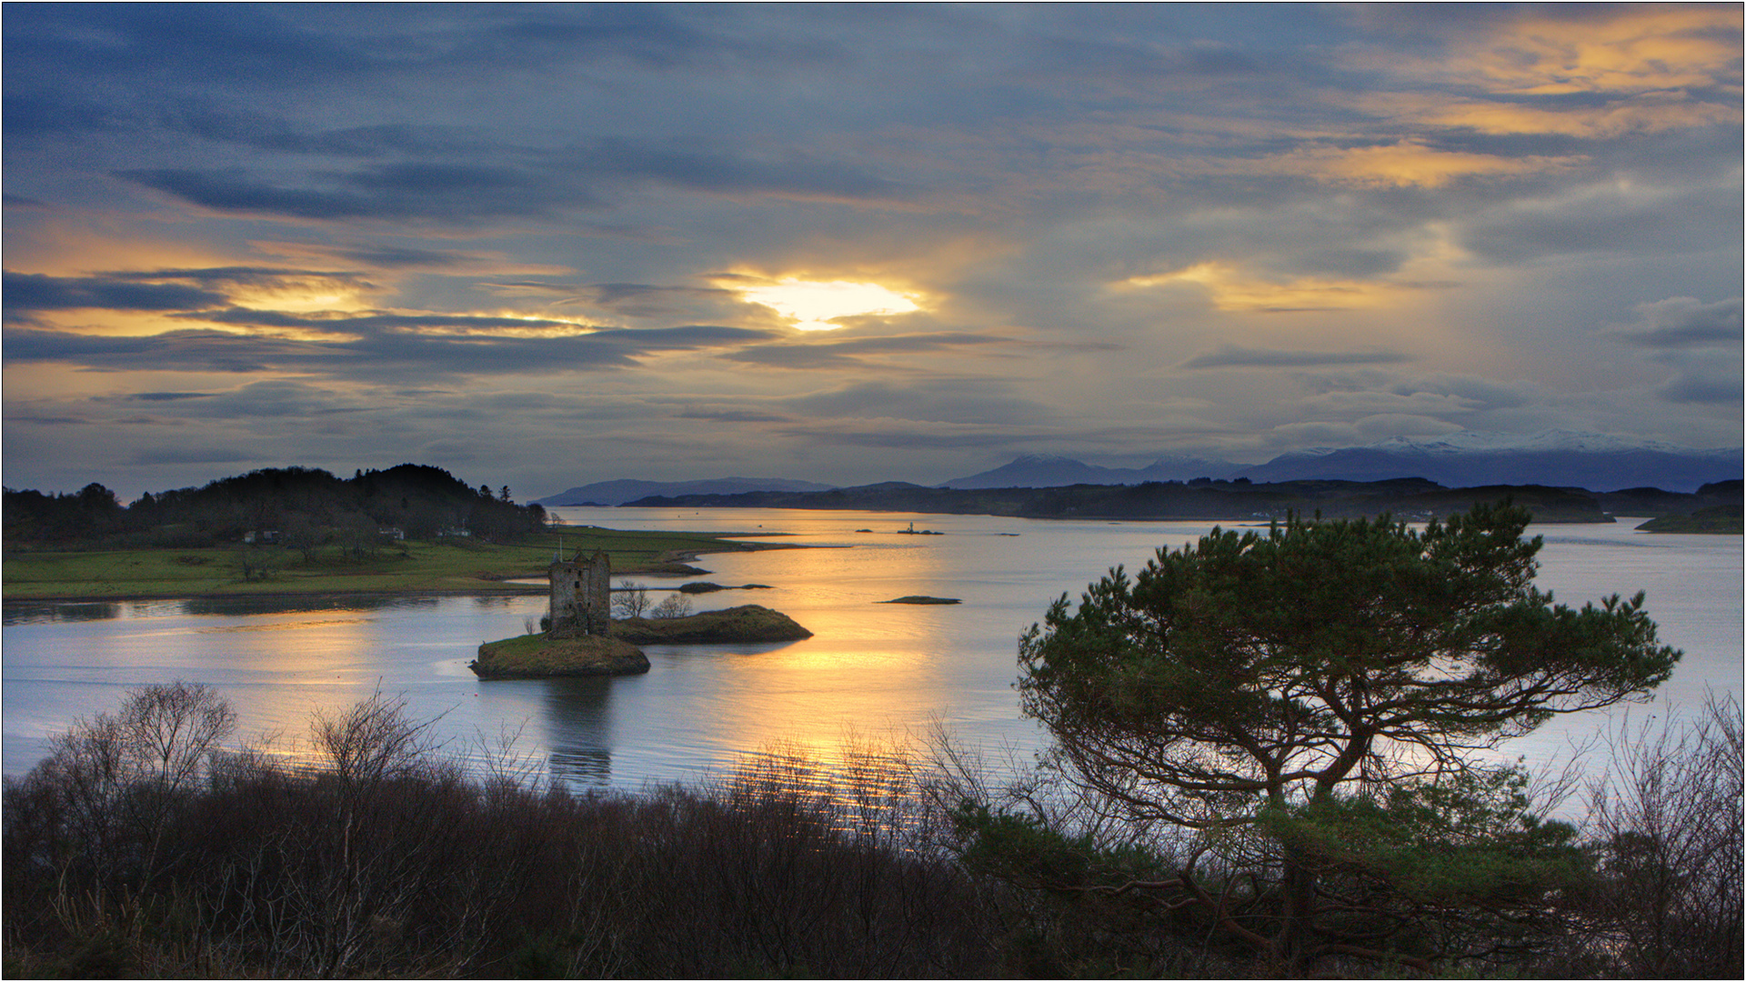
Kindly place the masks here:
[[(1475, 751), (1639, 697), (1680, 659), (1643, 594), (1535, 589), (1528, 519), (1213, 529), (1056, 601), (1021, 640), (1025, 711), (1103, 814), (1194, 842), (1159, 902), (1269, 961), (1496, 945), (1496, 917), (1531, 921), (1580, 863)], [(1474, 910), (1493, 923), (1463, 928)]]

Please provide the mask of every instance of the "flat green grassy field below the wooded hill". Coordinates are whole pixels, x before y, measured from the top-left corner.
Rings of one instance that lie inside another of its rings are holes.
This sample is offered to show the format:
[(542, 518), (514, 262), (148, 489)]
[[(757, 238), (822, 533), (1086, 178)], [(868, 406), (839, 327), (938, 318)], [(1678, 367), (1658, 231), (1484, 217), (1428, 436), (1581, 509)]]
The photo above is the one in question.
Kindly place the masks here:
[[(615, 573), (684, 573), (683, 559), (702, 552), (772, 549), (683, 531), (566, 528), (519, 543), (471, 540), (403, 542), (351, 556), (323, 545), (306, 559), (297, 549), (230, 545), (218, 549), (127, 549), (113, 552), (5, 552), (5, 599), (126, 599), (190, 596), (267, 596), (327, 592), (540, 592), (506, 578), (543, 577), (564, 536), (564, 550), (606, 550)], [(246, 571), (244, 571), (246, 568)]]

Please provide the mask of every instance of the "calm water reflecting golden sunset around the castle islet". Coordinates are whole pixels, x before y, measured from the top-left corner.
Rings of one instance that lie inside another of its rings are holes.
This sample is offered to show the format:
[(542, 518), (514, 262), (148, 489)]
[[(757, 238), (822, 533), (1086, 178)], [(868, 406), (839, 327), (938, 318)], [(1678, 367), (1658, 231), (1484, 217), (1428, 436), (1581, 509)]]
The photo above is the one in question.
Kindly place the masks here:
[[(381, 690), (433, 720), (445, 753), (484, 767), (505, 753), (578, 786), (695, 781), (742, 755), (796, 748), (829, 765), (856, 741), (920, 739), (943, 723), (966, 744), (1028, 758), (1042, 736), (1018, 711), (1016, 638), (1049, 601), (1114, 564), (1142, 566), (1212, 522), (1023, 521), (889, 512), (555, 508), (569, 524), (735, 531), (812, 549), (712, 554), (711, 582), (766, 584), (691, 598), (697, 610), (760, 603), (814, 631), (784, 645), (644, 648), (643, 676), (480, 681), (480, 641), (520, 634), (543, 596), (189, 599), (5, 605), (3, 765), (23, 774), (47, 737), (112, 709), (136, 685), (217, 687), (243, 739), (297, 757), (313, 713)], [(939, 535), (906, 535), (917, 531)], [(1233, 522), (1226, 522), (1227, 526)], [(1741, 536), (1646, 535), (1638, 521), (1531, 526), (1547, 540), (1540, 587), (1561, 603), (1648, 592), (1674, 678), (1633, 720), (1741, 694)], [(866, 529), (866, 531), (861, 531)], [(653, 591), (684, 580), (636, 577)], [(618, 577), (618, 582), (623, 582)], [(952, 606), (885, 605), (899, 596)], [(653, 592), (653, 596), (663, 596)], [(1615, 709), (1619, 720), (1626, 709)], [(1509, 753), (1568, 757), (1608, 722), (1561, 716)]]

